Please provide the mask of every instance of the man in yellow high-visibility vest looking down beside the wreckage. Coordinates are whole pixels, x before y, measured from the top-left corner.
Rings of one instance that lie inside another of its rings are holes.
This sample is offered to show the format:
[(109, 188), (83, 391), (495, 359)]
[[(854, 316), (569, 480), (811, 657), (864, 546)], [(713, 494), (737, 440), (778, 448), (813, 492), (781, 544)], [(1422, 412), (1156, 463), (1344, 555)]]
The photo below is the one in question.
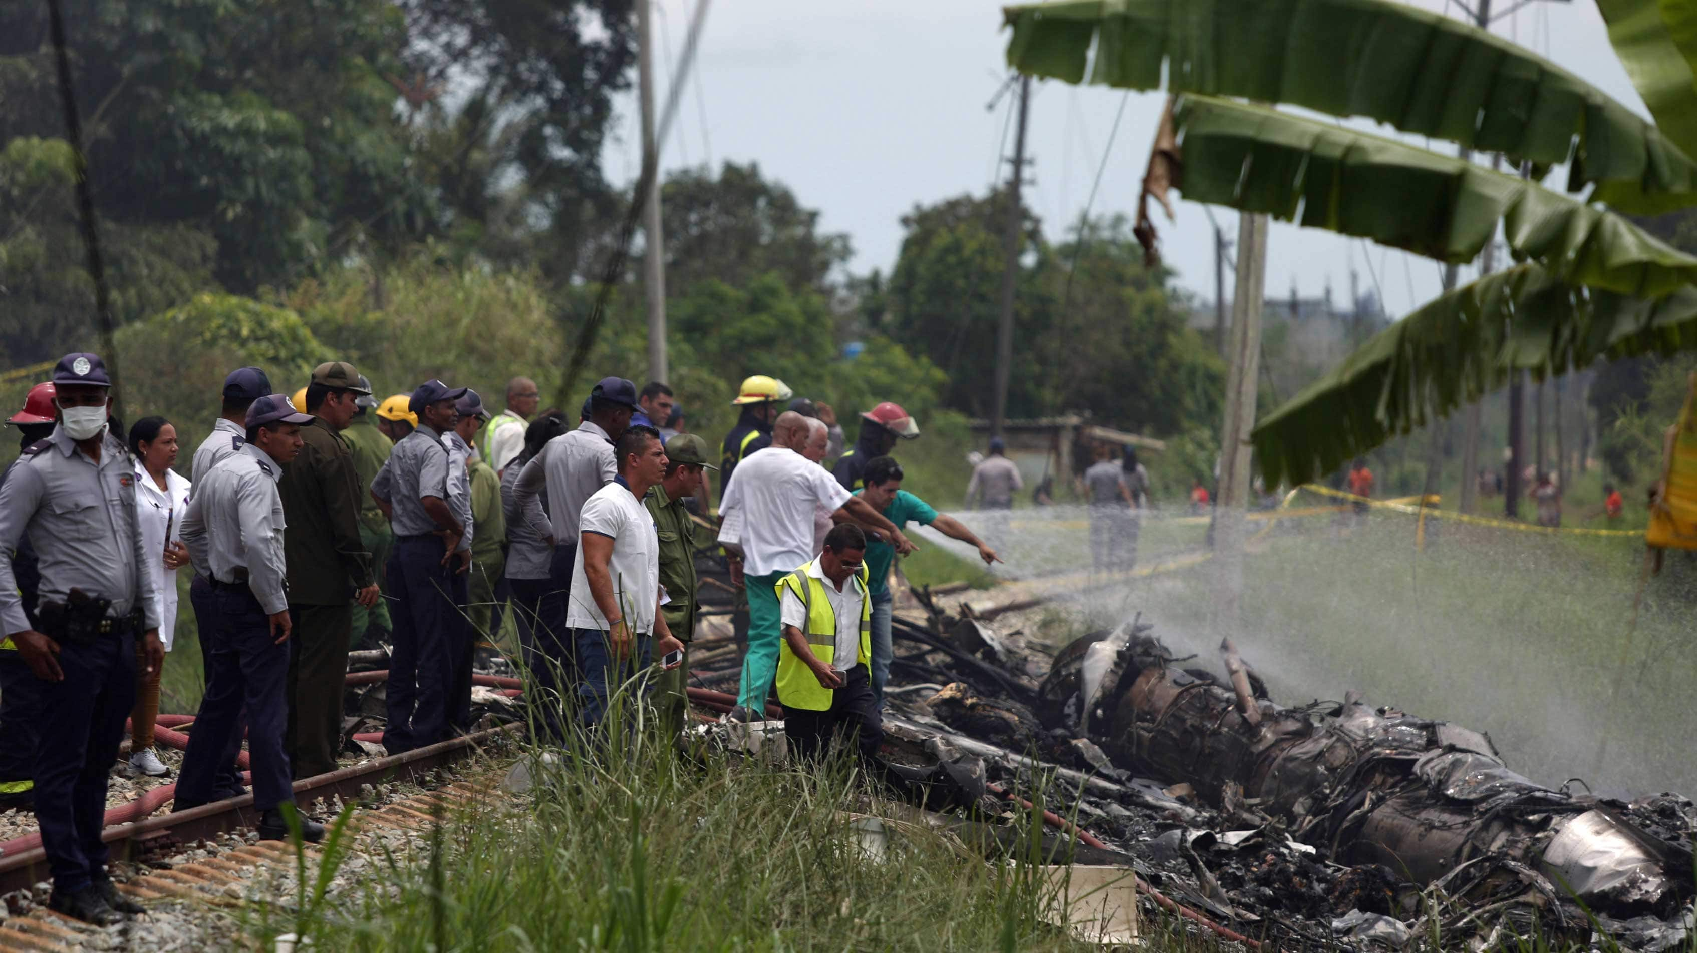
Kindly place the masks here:
[(865, 534), (852, 522), (825, 536), (811, 563), (777, 580), (784, 644), (777, 658), (777, 700), (784, 734), (798, 758), (821, 753), (835, 736), (877, 763), (884, 727), (872, 695), (872, 599), (865, 578)]

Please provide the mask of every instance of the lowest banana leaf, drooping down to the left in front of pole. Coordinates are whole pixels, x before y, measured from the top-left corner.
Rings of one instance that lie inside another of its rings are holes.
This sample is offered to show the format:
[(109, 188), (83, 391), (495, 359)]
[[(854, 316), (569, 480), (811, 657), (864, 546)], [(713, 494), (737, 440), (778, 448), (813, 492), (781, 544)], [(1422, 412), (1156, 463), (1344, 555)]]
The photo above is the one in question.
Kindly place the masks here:
[(1487, 275), (1378, 332), (1251, 434), (1269, 487), (1337, 470), (1509, 383), (1597, 358), (1697, 349), (1697, 288), (1641, 298), (1568, 285), (1534, 263)]

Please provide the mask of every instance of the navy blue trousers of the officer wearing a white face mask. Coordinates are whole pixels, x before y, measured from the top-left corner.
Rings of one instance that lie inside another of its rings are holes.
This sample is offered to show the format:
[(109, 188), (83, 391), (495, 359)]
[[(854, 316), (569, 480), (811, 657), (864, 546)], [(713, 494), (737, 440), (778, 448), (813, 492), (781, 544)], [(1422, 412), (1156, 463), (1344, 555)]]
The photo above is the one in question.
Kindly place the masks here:
[(53, 889), (76, 892), (105, 880), (107, 772), (136, 707), (136, 638), (59, 643), (63, 682), (37, 682), (36, 822)]

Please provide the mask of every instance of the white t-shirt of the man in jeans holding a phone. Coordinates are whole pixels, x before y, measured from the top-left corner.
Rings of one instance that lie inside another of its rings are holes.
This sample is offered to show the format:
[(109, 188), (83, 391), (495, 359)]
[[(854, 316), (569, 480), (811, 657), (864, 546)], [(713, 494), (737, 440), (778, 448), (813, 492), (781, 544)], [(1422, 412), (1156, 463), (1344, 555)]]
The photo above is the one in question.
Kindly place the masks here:
[[(623, 476), (584, 500), (579, 516), (580, 532), (599, 532), (613, 539), (613, 556), (608, 558), (608, 575), (613, 577), (613, 599), (624, 612), (631, 633), (653, 633), (653, 607), (660, 595), (660, 536), (653, 516), (641, 505)], [(589, 594), (584, 575), (584, 546), (579, 544), (572, 561), (572, 604), (565, 622), (574, 629), (608, 631), (608, 617)]]

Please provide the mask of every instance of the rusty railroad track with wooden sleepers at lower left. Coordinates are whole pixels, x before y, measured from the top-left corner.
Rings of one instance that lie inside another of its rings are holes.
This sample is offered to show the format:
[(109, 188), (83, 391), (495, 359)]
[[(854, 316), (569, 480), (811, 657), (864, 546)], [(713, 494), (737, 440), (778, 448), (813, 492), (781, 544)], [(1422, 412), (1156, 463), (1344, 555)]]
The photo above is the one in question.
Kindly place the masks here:
[[(497, 750), (506, 741), (523, 731), (523, 724), (509, 724), (489, 731), (479, 731), (463, 738), (394, 755), (373, 761), (341, 768), (326, 775), (302, 778), (295, 782), (295, 802), (307, 811), (317, 811), (314, 802), (360, 802), (367, 800), (373, 790), (395, 783), (433, 783), (440, 775), (456, 763), (480, 753)], [(441, 785), (436, 790), (385, 804), (372, 811), (361, 811), (355, 817), (360, 829), (392, 828), (406, 833), (428, 829), (428, 822), (441, 809), (462, 804), (484, 789), (460, 780)], [(263, 865), (294, 865), (294, 848), (282, 841), (246, 843), (241, 834), (256, 828), (260, 821), (253, 809), (253, 795), (232, 797), (216, 804), (205, 804), (190, 811), (161, 814), (129, 824), (109, 826), (102, 839), (112, 848), (114, 861), (127, 861), (139, 870), (148, 870), (144, 877), (120, 883), (119, 889), (139, 900), (200, 899), (209, 904), (236, 904), (224, 895), (232, 883), (251, 877), (253, 868)], [(148, 861), (180, 853), (188, 844), (224, 843), (231, 850), (219, 853), (204, 863), (178, 865), (170, 870), (153, 868)], [(316, 851), (316, 846), (307, 848)], [(20, 851), (12, 856), (0, 856), (0, 894), (29, 890), (46, 880), (46, 851), (41, 848)], [(44, 900), (44, 897), (37, 897)], [(109, 931), (90, 928), (88, 924), (61, 917), (37, 906), (27, 916), (10, 916), (0, 924), (0, 951), (34, 951), (58, 953), (61, 950), (107, 948), (100, 938), (110, 938)]]

